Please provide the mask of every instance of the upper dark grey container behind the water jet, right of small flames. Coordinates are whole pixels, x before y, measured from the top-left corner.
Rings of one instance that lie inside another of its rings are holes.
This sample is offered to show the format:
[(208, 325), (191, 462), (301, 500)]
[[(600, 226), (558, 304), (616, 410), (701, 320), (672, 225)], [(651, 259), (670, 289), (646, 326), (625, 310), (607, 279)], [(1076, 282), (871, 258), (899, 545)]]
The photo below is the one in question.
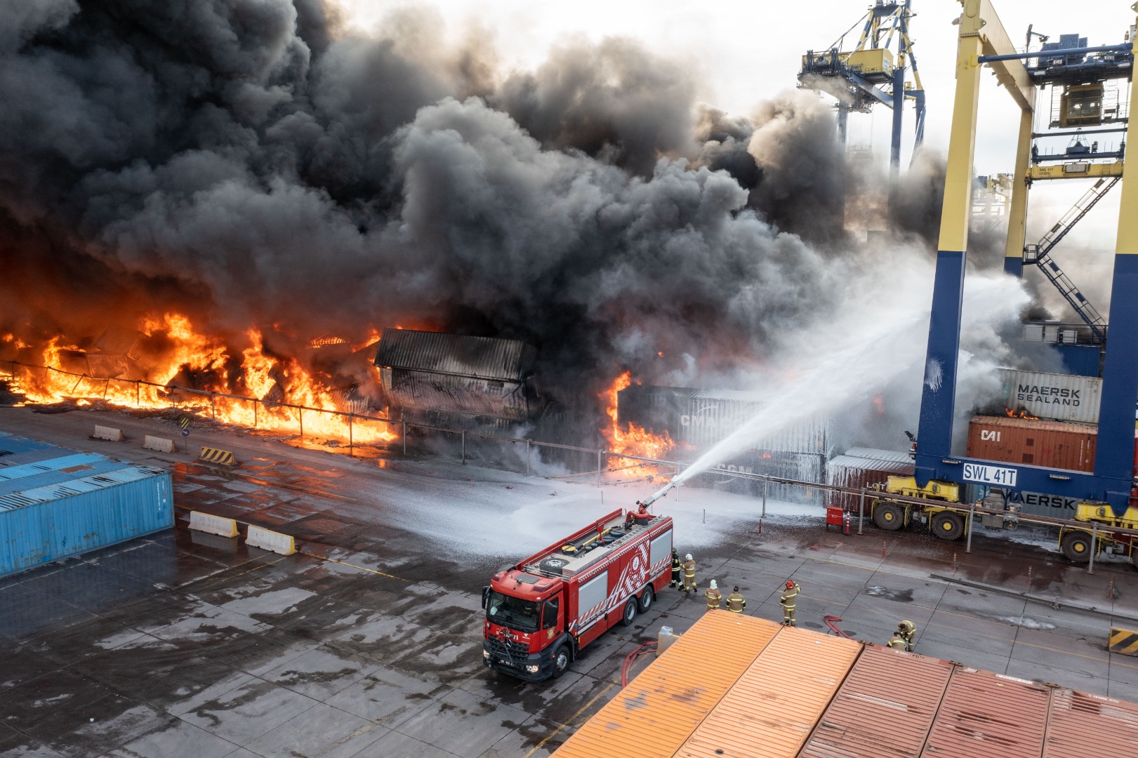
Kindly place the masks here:
[[(617, 421), (667, 432), (673, 442), (702, 451), (727, 438), (772, 402), (775, 398), (761, 393), (633, 385), (617, 395)], [(828, 455), (830, 419), (813, 415), (775, 434), (758, 435), (748, 447)]]

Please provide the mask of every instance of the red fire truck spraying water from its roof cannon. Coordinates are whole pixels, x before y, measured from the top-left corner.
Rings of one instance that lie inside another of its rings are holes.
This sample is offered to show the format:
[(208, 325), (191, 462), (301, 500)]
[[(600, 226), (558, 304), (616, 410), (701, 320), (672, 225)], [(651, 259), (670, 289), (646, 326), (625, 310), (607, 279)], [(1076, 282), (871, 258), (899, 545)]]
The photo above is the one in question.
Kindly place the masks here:
[(605, 629), (633, 623), (671, 569), (671, 518), (613, 511), (483, 587), (483, 662), (529, 682), (564, 674)]

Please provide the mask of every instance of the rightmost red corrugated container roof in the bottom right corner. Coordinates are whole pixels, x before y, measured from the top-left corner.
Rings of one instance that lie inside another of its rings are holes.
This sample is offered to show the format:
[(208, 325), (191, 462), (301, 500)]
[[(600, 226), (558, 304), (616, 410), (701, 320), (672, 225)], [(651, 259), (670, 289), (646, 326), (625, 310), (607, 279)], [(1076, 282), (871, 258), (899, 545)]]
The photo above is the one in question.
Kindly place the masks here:
[[(1110, 740), (1107, 745), (1103, 740)], [(1106, 750), (1104, 750), (1106, 747)], [(1074, 690), (1052, 690), (1044, 758), (1138, 756), (1138, 703)]]

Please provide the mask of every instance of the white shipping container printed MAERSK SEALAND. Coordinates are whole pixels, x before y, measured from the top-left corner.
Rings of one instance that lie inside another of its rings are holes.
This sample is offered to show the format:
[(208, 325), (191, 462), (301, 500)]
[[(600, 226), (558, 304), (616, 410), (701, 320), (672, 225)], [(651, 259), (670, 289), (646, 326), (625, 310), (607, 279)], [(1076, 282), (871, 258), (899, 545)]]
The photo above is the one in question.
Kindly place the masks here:
[(1039, 419), (1098, 423), (1103, 380), (1069, 373), (998, 369), (1004, 407)]

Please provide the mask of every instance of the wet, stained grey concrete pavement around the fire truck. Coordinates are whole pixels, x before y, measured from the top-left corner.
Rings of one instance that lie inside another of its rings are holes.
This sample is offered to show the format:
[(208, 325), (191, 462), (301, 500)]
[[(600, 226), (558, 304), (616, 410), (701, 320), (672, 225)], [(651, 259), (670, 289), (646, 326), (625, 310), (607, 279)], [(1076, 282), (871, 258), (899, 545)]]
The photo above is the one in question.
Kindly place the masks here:
[[(628, 652), (661, 625), (683, 632), (704, 612), (701, 598), (666, 591), (561, 679), (523, 684), (481, 666), (479, 591), (503, 551), (440, 546), (432, 533), (445, 516), (429, 504), (413, 519), (384, 509), (443, 479), (502, 487), (513, 475), (444, 460), (378, 469), (218, 435), (211, 442), (242, 452), (229, 472), (86, 440), (91, 415), (106, 414), (2, 409), (0, 429), (165, 460), (180, 508), (288, 532), (303, 552), (191, 533), (182, 517), (168, 533), (0, 579), (0, 756), (547, 756), (616, 693)], [(550, 496), (544, 480), (509, 481)], [(571, 508), (572, 492), (561, 493), (559, 505)], [(1138, 701), (1138, 659), (1105, 650), (1112, 618), (1065, 605), (1138, 617), (1138, 574), (1120, 562), (1088, 575), (999, 538), (978, 537), (965, 554), (920, 534), (843, 536), (793, 519), (759, 535), (736, 518), (724, 535), (696, 551), (698, 580), (739, 584), (749, 613), (781, 619), (778, 591), (793, 577), (802, 626), (824, 631), (822, 616), (835, 615), (855, 636), (884, 642), (907, 618), (918, 652)], [(1022, 591), (1029, 567), (1031, 588), (1059, 595), (1061, 608), (930, 576)]]

